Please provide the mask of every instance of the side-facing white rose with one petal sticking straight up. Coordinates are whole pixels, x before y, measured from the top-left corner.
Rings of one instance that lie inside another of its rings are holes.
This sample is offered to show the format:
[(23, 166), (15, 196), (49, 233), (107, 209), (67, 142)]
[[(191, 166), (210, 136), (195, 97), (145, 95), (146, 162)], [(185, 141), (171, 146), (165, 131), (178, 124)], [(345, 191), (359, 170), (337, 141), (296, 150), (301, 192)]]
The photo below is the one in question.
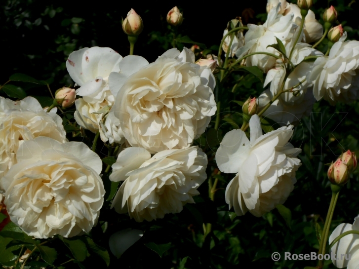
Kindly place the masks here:
[(226, 202), (237, 215), (247, 211), (256, 217), (284, 203), (296, 183), (295, 171), (301, 165), (300, 152), (288, 141), (293, 126), (262, 135), (260, 119), (249, 120), (250, 140), (239, 129), (228, 132), (216, 153), (219, 170), (237, 173), (226, 188)]

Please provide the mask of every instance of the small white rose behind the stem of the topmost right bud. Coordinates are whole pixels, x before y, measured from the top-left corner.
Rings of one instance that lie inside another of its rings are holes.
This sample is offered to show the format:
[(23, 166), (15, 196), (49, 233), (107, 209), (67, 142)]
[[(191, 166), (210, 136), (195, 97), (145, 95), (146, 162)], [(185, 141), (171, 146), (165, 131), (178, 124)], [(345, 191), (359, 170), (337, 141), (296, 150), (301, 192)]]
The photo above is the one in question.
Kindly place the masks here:
[[(300, 8), (296, 4), (289, 4), (290, 7), (286, 11), (286, 16), (294, 14), (293, 22), (298, 25), (301, 24), (302, 15), (300, 14)], [(304, 19), (303, 26), (304, 36), (302, 41), (306, 43), (312, 43), (317, 41), (323, 35), (323, 26), (316, 20), (316, 15), (312, 10), (308, 10), (308, 14)]]

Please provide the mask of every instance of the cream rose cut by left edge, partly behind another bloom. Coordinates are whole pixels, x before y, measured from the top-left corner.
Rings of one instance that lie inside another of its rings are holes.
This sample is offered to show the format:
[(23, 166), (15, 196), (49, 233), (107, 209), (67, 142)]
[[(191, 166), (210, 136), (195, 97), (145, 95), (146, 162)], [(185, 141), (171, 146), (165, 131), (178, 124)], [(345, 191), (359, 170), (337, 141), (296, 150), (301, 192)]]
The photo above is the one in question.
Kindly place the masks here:
[(2, 176), (17, 163), (20, 145), (39, 136), (66, 142), (61, 117), (43, 111), (34, 97), (17, 102), (0, 97), (0, 189)]

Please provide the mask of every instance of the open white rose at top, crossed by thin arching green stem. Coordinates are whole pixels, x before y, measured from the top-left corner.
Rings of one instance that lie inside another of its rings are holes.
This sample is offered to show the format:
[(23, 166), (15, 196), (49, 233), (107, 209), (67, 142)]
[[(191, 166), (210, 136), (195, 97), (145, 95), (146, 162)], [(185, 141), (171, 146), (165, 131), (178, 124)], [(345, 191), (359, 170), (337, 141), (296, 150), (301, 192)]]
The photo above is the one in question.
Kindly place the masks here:
[[(279, 38), (284, 45), (291, 41), (294, 35), (294, 30), (298, 27), (293, 23), (293, 14), (280, 15), (278, 14), (280, 3), (276, 8), (272, 8), (268, 13), (267, 21), (263, 25), (248, 24), (249, 30), (245, 33), (245, 45), (236, 51), (236, 56), (241, 58), (247, 53), (254, 52), (269, 52), (275, 55), (280, 55), (279, 51), (268, 45), (276, 44)], [(276, 65), (276, 58), (265, 55), (255, 54), (246, 58), (247, 66), (258, 66), (264, 72), (268, 72)]]

